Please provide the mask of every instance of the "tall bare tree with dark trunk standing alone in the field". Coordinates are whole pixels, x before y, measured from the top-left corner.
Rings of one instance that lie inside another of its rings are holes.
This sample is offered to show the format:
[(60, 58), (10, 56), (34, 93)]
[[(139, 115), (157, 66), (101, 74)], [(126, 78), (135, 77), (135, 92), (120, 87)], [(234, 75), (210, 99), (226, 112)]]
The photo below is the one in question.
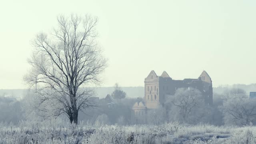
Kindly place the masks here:
[(58, 16), (58, 27), (49, 36), (36, 35), (29, 60), (32, 70), (24, 77), (37, 96), (42, 116), (66, 114), (78, 123), (78, 112), (94, 107), (93, 90), (106, 68), (96, 41), (97, 18)]

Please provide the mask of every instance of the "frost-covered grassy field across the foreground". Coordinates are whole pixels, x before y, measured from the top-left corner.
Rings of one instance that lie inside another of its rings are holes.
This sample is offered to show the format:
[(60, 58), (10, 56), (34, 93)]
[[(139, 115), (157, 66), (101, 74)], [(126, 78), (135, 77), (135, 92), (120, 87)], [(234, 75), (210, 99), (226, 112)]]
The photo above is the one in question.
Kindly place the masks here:
[(255, 144), (256, 127), (205, 124), (118, 126), (80, 123), (0, 124), (0, 144)]

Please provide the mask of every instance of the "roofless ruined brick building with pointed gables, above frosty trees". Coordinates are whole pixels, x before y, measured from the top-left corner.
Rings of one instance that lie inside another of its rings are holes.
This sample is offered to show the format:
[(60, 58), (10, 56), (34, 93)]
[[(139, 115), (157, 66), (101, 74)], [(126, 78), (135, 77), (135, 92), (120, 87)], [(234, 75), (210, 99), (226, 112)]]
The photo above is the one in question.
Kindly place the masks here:
[(135, 103), (132, 108), (132, 123), (146, 123), (147, 109), (156, 109), (164, 104), (167, 96), (174, 95), (178, 88), (195, 88), (200, 90), (204, 96), (205, 105), (212, 105), (212, 80), (206, 71), (197, 79), (186, 78), (184, 80), (173, 80), (163, 72), (157, 76), (154, 70), (144, 80), (144, 102)]

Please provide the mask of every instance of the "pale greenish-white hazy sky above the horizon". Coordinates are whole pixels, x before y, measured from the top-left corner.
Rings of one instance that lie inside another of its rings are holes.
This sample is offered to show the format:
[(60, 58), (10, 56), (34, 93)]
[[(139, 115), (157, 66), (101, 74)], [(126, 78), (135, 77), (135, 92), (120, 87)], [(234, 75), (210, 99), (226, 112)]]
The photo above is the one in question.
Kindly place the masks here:
[(109, 67), (102, 86), (144, 86), (151, 70), (213, 85), (256, 83), (255, 0), (3, 0), (0, 4), (0, 89), (26, 88), (38, 32), (59, 14), (98, 16)]

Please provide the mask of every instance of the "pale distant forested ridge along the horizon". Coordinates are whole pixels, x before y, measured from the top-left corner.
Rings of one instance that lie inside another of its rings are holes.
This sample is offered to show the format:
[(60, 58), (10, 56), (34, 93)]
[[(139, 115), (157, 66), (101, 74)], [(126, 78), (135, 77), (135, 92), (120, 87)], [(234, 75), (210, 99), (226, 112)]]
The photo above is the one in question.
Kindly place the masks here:
[[(121, 87), (124, 92), (127, 94), (127, 98), (142, 98), (144, 96), (144, 87)], [(222, 85), (213, 88), (213, 93), (222, 94), (228, 88), (242, 88), (246, 91), (246, 94), (249, 95), (250, 92), (256, 92), (256, 84), (233, 84), (233, 85)], [(107, 94), (111, 94), (114, 91), (114, 87), (98, 87), (94, 88), (96, 92), (96, 97), (104, 98)], [(26, 89), (14, 89), (14, 90), (1, 90), (0, 96), (17, 98), (21, 99), (23, 96), (27, 94)]]

